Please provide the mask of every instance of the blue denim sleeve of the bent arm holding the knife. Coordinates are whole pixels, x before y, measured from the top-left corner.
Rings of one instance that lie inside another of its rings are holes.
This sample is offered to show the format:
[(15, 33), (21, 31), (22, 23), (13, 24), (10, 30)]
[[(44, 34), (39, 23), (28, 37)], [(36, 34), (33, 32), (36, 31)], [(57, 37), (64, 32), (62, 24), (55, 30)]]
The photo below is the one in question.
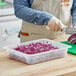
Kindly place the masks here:
[[(32, 1), (32, 0), (29, 0)], [(53, 17), (48, 12), (32, 9), (28, 0), (14, 0), (15, 15), (27, 22), (44, 25)], [(32, 3), (31, 3), (32, 4)]]

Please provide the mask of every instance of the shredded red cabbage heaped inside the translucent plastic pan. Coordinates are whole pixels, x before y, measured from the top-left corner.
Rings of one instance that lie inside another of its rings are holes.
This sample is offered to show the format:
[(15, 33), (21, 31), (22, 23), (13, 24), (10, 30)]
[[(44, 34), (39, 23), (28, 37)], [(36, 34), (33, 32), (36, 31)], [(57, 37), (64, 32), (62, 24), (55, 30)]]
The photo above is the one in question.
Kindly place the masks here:
[(58, 49), (58, 47), (49, 44), (48, 42), (36, 42), (30, 43), (29, 45), (22, 45), (14, 48), (16, 51), (23, 52), (26, 54), (36, 54), (45, 51), (51, 51)]

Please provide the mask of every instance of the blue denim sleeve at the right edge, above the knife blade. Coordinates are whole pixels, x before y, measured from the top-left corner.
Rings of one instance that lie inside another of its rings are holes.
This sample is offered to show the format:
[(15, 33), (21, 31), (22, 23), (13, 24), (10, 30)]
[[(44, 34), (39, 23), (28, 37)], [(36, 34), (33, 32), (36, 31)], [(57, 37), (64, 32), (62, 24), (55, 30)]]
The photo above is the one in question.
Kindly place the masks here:
[(73, 26), (76, 26), (76, 0), (73, 0), (71, 14), (72, 14), (72, 23), (73, 23)]

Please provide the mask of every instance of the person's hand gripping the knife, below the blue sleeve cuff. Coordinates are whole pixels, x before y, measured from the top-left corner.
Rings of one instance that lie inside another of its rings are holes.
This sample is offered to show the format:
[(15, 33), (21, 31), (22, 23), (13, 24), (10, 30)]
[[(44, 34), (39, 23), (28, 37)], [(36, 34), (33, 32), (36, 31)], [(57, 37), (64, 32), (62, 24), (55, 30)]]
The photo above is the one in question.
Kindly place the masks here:
[(49, 22), (47, 27), (49, 28), (49, 30), (51, 31), (62, 31), (62, 29), (65, 27), (65, 25), (56, 17), (53, 17)]

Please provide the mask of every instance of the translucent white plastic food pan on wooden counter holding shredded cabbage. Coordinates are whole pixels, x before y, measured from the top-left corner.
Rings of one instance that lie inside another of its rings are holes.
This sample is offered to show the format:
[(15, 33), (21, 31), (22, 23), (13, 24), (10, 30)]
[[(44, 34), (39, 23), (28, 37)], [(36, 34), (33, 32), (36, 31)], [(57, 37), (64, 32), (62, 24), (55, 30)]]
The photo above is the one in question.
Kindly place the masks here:
[[(15, 50), (17, 47), (27, 46), (27, 45), (35, 44), (35, 43), (51, 44), (52, 46), (54, 46), (55, 49), (47, 50), (49, 45), (48, 46), (45, 45), (45, 47), (44, 47), (44, 46), (39, 46), (39, 44), (38, 44), (37, 47), (33, 46), (34, 48), (36, 48), (36, 50), (34, 50), (35, 53), (32, 53), (32, 54), (31, 53), (27, 54), (25, 52), (25, 50), (24, 50), (24, 52)], [(40, 51), (41, 49), (39, 49), (38, 46), (39, 46), (39, 48), (43, 47), (44, 51)], [(8, 47), (7, 50), (9, 52), (10, 58), (22, 61), (27, 64), (34, 64), (34, 63), (39, 63), (39, 62), (43, 62), (43, 61), (48, 61), (48, 60), (64, 57), (67, 55), (67, 50), (70, 47), (71, 46), (68, 46), (68, 45), (65, 45), (65, 44), (62, 44), (62, 43), (59, 43), (56, 41), (52, 41), (49, 39), (38, 39), (38, 40), (20, 43), (18, 45), (11, 45)], [(37, 48), (38, 48), (38, 50), (37, 50)], [(36, 51), (39, 51), (39, 52), (36, 52)]]

